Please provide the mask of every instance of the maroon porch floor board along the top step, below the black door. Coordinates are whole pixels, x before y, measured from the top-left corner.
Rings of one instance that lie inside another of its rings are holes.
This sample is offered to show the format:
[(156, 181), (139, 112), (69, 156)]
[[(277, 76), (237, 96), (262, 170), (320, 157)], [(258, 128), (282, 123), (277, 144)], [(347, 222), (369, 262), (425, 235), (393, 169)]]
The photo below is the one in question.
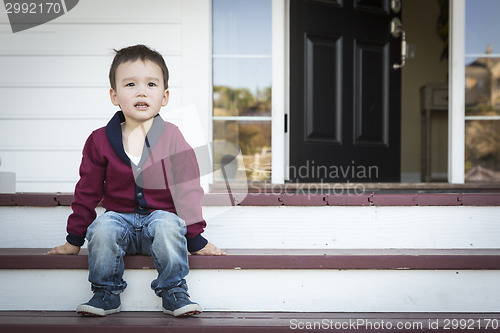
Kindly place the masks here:
[[(259, 185), (248, 191), (235, 189), (207, 193), (203, 206), (500, 206), (500, 187), (496, 184), (482, 187), (443, 185), (442, 189), (422, 184), (377, 187), (377, 184), (302, 184)], [(363, 186), (363, 187), (359, 187)], [(362, 190), (360, 190), (362, 189)], [(377, 190), (378, 189), (378, 190)], [(0, 194), (1, 206), (55, 207), (69, 206), (71, 193), (15, 193)]]

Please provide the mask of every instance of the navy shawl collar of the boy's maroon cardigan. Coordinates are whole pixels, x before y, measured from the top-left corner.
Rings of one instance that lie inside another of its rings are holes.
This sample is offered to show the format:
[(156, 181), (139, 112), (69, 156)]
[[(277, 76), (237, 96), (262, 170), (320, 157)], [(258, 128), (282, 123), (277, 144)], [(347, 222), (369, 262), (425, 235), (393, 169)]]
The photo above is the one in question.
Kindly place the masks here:
[[(106, 125), (106, 137), (108, 138), (113, 151), (116, 155), (127, 165), (132, 165), (129, 157), (125, 153), (125, 149), (123, 147), (123, 137), (122, 137), (122, 127), (121, 124), (125, 122), (125, 115), (122, 111), (117, 111), (115, 115), (111, 118), (111, 120)], [(153, 119), (153, 125), (149, 129), (146, 134), (146, 140), (144, 142), (144, 149), (142, 150), (141, 161), (139, 162), (139, 166), (143, 165), (144, 162), (149, 158), (150, 153), (153, 148), (158, 143), (160, 136), (163, 133), (163, 129), (165, 127), (165, 122), (161, 118), (159, 114), (157, 114)]]

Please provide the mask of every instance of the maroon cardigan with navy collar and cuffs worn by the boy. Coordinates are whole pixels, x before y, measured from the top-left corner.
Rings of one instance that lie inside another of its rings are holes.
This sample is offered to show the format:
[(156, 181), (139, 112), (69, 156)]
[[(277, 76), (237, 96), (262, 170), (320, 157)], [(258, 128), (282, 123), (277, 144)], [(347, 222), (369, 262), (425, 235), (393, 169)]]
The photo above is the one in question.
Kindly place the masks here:
[(175, 125), (157, 115), (136, 166), (123, 148), (124, 121), (123, 113), (118, 111), (85, 143), (66, 240), (83, 245), (87, 228), (97, 216), (95, 208), (101, 202), (107, 211), (148, 214), (165, 210), (177, 214), (186, 221), (188, 250), (202, 249), (207, 244), (201, 235), (206, 222), (201, 213), (203, 189), (193, 149)]

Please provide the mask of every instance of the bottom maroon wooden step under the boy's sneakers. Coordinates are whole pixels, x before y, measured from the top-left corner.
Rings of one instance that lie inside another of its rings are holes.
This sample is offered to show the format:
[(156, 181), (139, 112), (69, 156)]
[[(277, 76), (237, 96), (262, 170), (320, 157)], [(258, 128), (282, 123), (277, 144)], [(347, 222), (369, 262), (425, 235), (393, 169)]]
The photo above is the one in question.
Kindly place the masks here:
[(497, 331), (498, 313), (249, 313), (210, 312), (173, 318), (161, 312), (122, 312), (81, 317), (75, 312), (2, 311), (4, 333), (250, 333), (337, 332), (481, 332)]

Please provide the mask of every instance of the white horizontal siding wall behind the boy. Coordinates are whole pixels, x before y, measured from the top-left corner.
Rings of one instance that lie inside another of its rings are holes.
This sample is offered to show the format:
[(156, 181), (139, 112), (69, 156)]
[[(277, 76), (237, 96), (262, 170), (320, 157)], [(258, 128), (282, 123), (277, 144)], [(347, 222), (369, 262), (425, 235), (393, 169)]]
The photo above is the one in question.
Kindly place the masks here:
[(209, 22), (209, 0), (82, 0), (52, 22), (13, 34), (0, 11), (0, 171), (16, 172), (18, 192), (72, 192), (85, 139), (117, 110), (109, 101), (113, 49), (137, 43), (161, 52), (169, 67), (162, 116), (182, 130), (190, 124), (179, 110), (202, 115), (201, 133), (187, 132), (198, 135), (189, 141), (203, 142)]

